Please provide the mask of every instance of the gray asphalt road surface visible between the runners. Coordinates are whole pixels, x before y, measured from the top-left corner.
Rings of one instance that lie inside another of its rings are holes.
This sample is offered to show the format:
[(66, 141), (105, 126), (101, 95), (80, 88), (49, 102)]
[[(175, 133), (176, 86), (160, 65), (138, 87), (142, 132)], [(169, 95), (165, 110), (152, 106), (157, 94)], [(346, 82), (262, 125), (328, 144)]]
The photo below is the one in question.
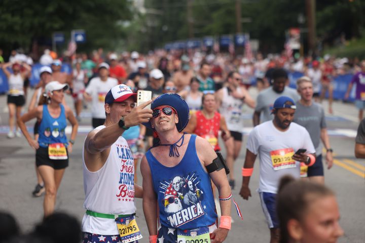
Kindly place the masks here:
[[(255, 90), (250, 90), (255, 96)], [(32, 91), (30, 92), (32, 93)], [(67, 103), (72, 101), (67, 97)], [(326, 108), (326, 103), (323, 104)], [(325, 170), (325, 183), (331, 187), (337, 195), (340, 206), (340, 224), (345, 235), (339, 242), (363, 243), (365, 242), (365, 186), (364, 173), (365, 162), (354, 157), (354, 136), (358, 126), (357, 110), (352, 104), (335, 102), (334, 115), (328, 115), (327, 126), (330, 140), (335, 150), (335, 165), (331, 170)], [(245, 111), (246, 132), (252, 126), (250, 116), (252, 110)], [(70, 154), (69, 167), (66, 169), (60, 189), (57, 195), (56, 210), (70, 213), (80, 221), (84, 215), (84, 191), (82, 174), (82, 145), (87, 131), (90, 130), (91, 118), (88, 110), (82, 114), (81, 127), (74, 145), (74, 151)], [(24, 139), (7, 139), (8, 113), (6, 110), (6, 96), (0, 96), (0, 210), (13, 214), (19, 222), (23, 232), (30, 231), (43, 217), (43, 197), (31, 196), (36, 179), (34, 172), (34, 150)], [(27, 125), (32, 127), (34, 121)], [(240, 157), (235, 164), (234, 174), (236, 188), (233, 195), (243, 214), (241, 221), (234, 208), (232, 217), (234, 223), (226, 242), (268, 242), (269, 230), (260, 206), (260, 198), (257, 192), (259, 179), (259, 163), (255, 163), (254, 172), (250, 182), (252, 197), (244, 201), (239, 196), (241, 183), (241, 167), (245, 156), (244, 137)], [(224, 146), (223, 146), (224, 147)], [(223, 149), (223, 153), (225, 151)], [(139, 170), (139, 169), (138, 169)], [(138, 182), (141, 182), (140, 173)], [(142, 212), (142, 200), (136, 199), (137, 222), (144, 236), (140, 242), (148, 242), (148, 231)]]

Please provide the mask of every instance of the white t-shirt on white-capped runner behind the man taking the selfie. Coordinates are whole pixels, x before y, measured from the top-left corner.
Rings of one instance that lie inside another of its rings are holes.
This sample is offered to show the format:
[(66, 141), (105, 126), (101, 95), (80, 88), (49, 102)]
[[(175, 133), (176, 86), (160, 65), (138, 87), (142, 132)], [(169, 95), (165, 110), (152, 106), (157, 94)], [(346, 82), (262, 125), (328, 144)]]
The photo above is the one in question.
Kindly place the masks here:
[(91, 112), (93, 118), (105, 119), (105, 95), (110, 89), (117, 85), (118, 80), (114, 77), (108, 77), (106, 81), (101, 81), (100, 77), (94, 77), (90, 80), (90, 84), (85, 92), (92, 97)]

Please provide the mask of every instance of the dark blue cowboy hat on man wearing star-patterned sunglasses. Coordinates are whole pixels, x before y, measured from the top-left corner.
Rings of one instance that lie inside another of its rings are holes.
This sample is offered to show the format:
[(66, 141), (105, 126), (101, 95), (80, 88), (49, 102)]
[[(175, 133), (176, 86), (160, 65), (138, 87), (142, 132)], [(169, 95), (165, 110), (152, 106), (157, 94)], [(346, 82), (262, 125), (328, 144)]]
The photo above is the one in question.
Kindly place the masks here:
[[(151, 109), (155, 109), (156, 107), (167, 105), (171, 106), (176, 110), (178, 116), (178, 123), (176, 124), (177, 131), (181, 132), (188, 125), (189, 122), (189, 106), (185, 102), (184, 99), (181, 98), (178, 94), (175, 93), (166, 93), (159, 97), (157, 97), (151, 103)], [(144, 126), (153, 129), (151, 127), (151, 121), (148, 123), (142, 123)]]

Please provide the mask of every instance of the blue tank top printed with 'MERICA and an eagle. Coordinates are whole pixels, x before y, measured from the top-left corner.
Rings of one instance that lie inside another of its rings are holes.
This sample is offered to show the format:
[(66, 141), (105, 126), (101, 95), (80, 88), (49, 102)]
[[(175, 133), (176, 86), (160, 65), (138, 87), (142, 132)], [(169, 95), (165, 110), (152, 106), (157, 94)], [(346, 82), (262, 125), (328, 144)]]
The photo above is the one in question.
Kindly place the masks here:
[(151, 150), (145, 154), (165, 227), (195, 229), (210, 226), (217, 218), (210, 177), (196, 153), (195, 139), (191, 135), (184, 157), (174, 167), (161, 165)]

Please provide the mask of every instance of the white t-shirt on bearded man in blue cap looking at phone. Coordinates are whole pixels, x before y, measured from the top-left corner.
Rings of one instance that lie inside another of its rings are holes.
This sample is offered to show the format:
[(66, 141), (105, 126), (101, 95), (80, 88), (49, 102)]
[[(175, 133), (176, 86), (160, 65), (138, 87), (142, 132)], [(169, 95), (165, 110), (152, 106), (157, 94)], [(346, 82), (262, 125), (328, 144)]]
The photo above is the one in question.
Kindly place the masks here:
[(270, 120), (250, 132), (247, 149), (260, 155), (259, 192), (277, 193), (279, 180), (284, 175), (300, 178), (300, 162), (291, 159), (300, 148), (307, 149), (307, 154), (315, 153), (309, 133), (296, 123), (281, 132)]

